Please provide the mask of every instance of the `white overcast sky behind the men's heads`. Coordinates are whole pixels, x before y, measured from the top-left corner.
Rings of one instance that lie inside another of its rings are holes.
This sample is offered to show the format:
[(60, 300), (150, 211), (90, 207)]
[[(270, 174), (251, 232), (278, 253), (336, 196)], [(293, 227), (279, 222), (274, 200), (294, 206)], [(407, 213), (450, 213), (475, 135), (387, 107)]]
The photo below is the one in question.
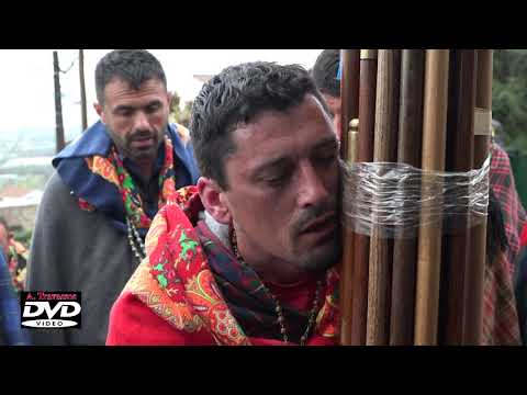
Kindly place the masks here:
[[(54, 49), (0, 49), (0, 140), (21, 129), (54, 129)], [(63, 93), (64, 125), (80, 133), (80, 89), (78, 49), (57, 49)], [(94, 69), (110, 49), (85, 49), (85, 78), (88, 124), (98, 120), (93, 110)], [(223, 68), (245, 61), (267, 60), (300, 64), (311, 68), (322, 49), (149, 49), (161, 63), (168, 90), (192, 100), (201, 89), (193, 75), (215, 75)], [(69, 134), (68, 133), (68, 134)], [(76, 135), (77, 133), (75, 133)]]

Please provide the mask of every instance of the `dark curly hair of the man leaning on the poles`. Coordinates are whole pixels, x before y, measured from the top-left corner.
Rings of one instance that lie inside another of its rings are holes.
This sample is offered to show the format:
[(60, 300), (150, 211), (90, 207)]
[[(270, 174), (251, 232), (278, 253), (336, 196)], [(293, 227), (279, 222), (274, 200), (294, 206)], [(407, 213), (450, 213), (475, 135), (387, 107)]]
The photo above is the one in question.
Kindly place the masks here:
[(190, 133), (202, 176), (227, 190), (224, 161), (236, 151), (232, 132), (265, 111), (287, 112), (313, 94), (326, 104), (299, 65), (256, 61), (232, 66), (203, 86), (192, 106)]

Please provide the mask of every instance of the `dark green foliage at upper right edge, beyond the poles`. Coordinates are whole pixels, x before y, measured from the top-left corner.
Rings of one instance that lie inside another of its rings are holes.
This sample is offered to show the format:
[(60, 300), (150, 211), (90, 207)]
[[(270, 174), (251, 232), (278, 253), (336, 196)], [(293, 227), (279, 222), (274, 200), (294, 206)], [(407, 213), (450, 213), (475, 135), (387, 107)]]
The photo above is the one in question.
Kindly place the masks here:
[(509, 150), (527, 154), (527, 49), (495, 49), (493, 117)]

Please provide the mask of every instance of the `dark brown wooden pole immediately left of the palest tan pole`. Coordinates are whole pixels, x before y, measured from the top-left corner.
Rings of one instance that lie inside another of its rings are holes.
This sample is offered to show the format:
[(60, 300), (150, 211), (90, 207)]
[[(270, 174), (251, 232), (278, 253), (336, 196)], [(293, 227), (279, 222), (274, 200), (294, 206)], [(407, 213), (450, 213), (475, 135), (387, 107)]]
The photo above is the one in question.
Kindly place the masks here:
[[(397, 162), (421, 167), (423, 134), (424, 49), (403, 49), (399, 112)], [(401, 229), (393, 245), (390, 345), (414, 342), (415, 266), (417, 238)]]

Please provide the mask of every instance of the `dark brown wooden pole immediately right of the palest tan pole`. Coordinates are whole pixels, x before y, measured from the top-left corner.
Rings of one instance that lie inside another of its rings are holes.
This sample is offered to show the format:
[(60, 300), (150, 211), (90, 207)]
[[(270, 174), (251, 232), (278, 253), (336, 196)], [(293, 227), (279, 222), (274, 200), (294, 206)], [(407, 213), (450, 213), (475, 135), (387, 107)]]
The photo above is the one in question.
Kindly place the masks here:
[[(475, 103), (475, 50), (450, 50), (450, 78), (448, 98), (447, 171), (467, 172), (472, 169), (474, 103)], [(466, 195), (469, 194), (467, 187)], [(466, 321), (464, 286), (470, 255), (469, 207), (466, 217), (456, 218), (445, 237), (444, 286), (441, 286), (442, 335), (440, 343), (463, 343)], [(441, 339), (442, 338), (442, 339)]]

